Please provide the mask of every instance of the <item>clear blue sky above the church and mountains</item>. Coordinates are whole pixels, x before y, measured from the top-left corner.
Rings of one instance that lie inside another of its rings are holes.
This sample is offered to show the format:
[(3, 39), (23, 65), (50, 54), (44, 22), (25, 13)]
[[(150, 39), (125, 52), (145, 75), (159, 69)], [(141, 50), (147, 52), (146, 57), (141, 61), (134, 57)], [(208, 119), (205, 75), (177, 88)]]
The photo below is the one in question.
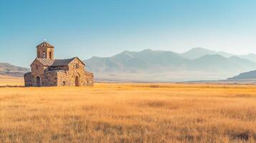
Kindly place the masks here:
[(204, 47), (256, 53), (255, 0), (0, 0), (0, 62), (29, 66), (47, 39), (58, 59)]

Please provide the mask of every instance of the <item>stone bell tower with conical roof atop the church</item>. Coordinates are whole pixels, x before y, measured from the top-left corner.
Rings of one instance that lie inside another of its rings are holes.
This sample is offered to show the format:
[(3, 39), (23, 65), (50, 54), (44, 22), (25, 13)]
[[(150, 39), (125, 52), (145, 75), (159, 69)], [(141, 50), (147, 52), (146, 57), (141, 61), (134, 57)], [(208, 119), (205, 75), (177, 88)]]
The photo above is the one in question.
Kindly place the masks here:
[(37, 46), (37, 58), (54, 59), (54, 46), (46, 41), (39, 44)]

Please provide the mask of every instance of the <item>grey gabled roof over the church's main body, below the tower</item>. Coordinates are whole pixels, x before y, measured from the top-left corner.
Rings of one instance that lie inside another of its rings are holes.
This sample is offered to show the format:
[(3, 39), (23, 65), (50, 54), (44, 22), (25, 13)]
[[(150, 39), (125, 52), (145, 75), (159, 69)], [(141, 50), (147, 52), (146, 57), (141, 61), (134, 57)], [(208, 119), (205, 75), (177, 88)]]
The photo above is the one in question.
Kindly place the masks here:
[[(38, 61), (40, 61), (44, 66), (67, 66), (67, 64), (70, 64), (71, 61), (74, 59), (80, 60), (78, 57), (74, 57), (72, 59), (42, 59), (37, 58)], [(80, 60), (81, 61), (81, 60)], [(81, 61), (82, 62), (82, 61)], [(85, 65), (85, 63), (82, 62), (82, 64)]]

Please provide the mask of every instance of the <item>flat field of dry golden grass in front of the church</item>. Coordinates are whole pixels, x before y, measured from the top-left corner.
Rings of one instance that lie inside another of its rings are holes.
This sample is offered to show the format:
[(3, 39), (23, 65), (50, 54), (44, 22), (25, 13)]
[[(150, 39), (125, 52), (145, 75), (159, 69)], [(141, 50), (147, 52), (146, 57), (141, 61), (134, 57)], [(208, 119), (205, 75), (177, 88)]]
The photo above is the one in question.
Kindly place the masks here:
[(256, 86), (1, 87), (0, 142), (256, 142)]

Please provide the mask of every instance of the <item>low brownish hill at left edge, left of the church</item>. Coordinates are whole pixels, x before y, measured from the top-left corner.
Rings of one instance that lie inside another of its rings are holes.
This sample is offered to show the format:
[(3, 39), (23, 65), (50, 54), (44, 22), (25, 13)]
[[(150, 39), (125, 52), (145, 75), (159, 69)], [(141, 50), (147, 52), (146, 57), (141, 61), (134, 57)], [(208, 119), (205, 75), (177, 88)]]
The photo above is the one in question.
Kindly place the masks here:
[(0, 75), (23, 77), (23, 74), (28, 71), (28, 68), (14, 66), (8, 63), (0, 63)]

